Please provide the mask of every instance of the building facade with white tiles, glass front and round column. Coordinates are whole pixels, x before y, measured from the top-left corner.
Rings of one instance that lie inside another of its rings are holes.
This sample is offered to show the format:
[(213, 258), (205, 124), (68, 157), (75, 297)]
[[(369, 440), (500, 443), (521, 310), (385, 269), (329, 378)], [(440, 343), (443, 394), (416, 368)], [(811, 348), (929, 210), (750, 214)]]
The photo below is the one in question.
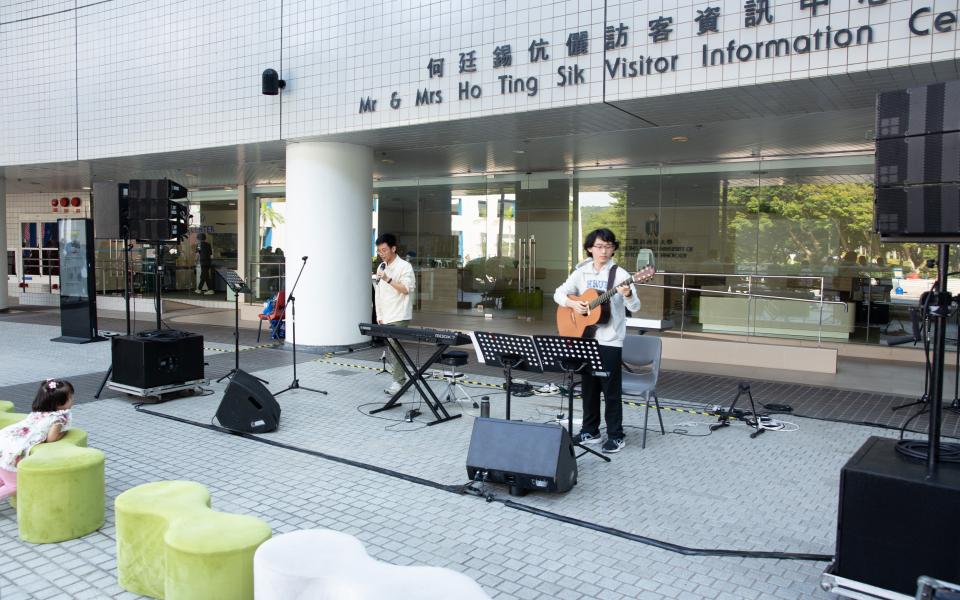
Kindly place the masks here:
[[(303, 268), (308, 345), (363, 341), (378, 233), (417, 267), (424, 320), (472, 329), (484, 315), (552, 319), (552, 291), (597, 226), (622, 238), (622, 264), (650, 251), (657, 281), (686, 288), (645, 289), (642, 316), (691, 335), (875, 344), (909, 326), (933, 256), (873, 233), (875, 97), (960, 77), (958, 12), (3, 2), (0, 62), (18, 81), (0, 90), (9, 289), (49, 295), (52, 268), (31, 260), (62, 216), (52, 199), (80, 198), (75, 216), (94, 181), (169, 177), (193, 190), (194, 233), (216, 236), (215, 258), (260, 296)], [(268, 68), (278, 95), (261, 93)], [(194, 239), (173, 289), (193, 285)], [(773, 298), (735, 295), (747, 291)]]

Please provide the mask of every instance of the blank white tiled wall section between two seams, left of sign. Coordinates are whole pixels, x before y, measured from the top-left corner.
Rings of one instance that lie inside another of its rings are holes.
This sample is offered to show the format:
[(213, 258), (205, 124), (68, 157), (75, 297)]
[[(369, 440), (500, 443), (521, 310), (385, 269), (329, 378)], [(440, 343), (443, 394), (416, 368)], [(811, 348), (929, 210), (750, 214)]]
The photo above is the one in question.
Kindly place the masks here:
[(80, 158), (278, 139), (280, 0), (108, 2), (78, 11)]

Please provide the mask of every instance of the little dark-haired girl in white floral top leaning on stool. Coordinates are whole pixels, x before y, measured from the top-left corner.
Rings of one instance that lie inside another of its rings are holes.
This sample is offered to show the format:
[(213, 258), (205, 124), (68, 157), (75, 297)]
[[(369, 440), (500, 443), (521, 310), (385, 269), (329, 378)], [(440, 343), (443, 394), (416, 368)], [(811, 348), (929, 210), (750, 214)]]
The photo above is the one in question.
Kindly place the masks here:
[(40, 384), (27, 418), (0, 429), (0, 499), (17, 491), (17, 464), (30, 449), (43, 442), (55, 442), (70, 427), (73, 386), (62, 379)]

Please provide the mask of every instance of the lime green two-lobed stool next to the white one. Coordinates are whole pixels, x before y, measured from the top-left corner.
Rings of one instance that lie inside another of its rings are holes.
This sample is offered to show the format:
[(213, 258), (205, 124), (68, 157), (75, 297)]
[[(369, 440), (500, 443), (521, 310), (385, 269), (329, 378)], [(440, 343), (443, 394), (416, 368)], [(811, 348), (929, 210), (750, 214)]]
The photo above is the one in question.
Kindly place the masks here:
[(253, 555), (271, 536), (260, 519), (212, 510), (192, 481), (139, 485), (115, 508), (120, 587), (167, 600), (253, 598)]

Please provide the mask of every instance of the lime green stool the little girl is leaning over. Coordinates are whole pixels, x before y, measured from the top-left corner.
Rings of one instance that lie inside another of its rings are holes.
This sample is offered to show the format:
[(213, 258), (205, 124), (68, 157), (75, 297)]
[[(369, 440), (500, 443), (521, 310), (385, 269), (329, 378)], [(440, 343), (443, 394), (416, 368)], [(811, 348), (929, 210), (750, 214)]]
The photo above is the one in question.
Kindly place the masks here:
[[(0, 402), (0, 427), (26, 415)], [(34, 544), (72, 540), (103, 526), (103, 452), (87, 448), (87, 432), (70, 429), (60, 440), (34, 446), (17, 465), (20, 539)]]

